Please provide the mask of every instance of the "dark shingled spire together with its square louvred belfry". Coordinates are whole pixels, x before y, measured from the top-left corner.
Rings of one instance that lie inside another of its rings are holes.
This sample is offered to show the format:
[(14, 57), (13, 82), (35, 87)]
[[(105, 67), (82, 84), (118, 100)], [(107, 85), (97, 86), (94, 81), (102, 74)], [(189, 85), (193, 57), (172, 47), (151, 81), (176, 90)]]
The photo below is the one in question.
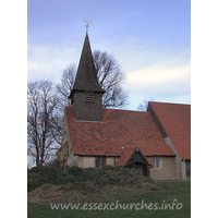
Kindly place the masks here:
[(102, 121), (102, 94), (95, 69), (88, 33), (86, 32), (81, 60), (73, 89), (71, 104), (74, 107), (75, 120)]

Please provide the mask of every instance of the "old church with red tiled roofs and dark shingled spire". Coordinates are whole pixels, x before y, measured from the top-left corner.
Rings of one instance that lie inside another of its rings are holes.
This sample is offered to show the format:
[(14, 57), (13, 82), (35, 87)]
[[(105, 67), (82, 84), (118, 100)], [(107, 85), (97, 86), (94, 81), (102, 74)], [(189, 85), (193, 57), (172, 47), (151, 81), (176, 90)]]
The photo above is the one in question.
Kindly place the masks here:
[(154, 180), (191, 180), (191, 105), (150, 101), (146, 112), (102, 109), (104, 93), (86, 32), (56, 154), (61, 165), (119, 165)]

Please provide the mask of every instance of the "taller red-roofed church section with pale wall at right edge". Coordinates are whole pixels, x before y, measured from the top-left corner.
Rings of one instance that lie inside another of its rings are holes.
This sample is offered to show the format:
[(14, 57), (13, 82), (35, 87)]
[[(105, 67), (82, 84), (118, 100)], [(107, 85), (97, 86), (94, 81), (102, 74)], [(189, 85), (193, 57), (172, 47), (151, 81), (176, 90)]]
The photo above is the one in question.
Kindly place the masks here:
[(191, 179), (191, 105), (149, 102), (147, 111), (175, 154), (177, 178)]

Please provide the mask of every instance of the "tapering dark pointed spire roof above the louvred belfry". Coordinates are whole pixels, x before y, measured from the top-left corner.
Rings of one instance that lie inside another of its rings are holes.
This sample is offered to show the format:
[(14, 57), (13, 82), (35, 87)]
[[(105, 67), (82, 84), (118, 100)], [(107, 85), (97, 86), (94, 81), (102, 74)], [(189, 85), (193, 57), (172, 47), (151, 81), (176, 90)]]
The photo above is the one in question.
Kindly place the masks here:
[(93, 53), (87, 32), (81, 53), (81, 60), (78, 63), (73, 90), (89, 90), (100, 93), (105, 92), (98, 84), (97, 72), (93, 61)]

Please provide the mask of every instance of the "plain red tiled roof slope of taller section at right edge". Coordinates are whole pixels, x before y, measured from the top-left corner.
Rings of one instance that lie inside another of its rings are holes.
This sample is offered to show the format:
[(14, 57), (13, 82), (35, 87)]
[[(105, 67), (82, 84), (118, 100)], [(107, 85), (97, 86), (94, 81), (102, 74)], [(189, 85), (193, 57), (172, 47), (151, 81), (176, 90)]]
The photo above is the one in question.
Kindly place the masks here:
[(149, 102), (182, 159), (191, 159), (191, 105)]

